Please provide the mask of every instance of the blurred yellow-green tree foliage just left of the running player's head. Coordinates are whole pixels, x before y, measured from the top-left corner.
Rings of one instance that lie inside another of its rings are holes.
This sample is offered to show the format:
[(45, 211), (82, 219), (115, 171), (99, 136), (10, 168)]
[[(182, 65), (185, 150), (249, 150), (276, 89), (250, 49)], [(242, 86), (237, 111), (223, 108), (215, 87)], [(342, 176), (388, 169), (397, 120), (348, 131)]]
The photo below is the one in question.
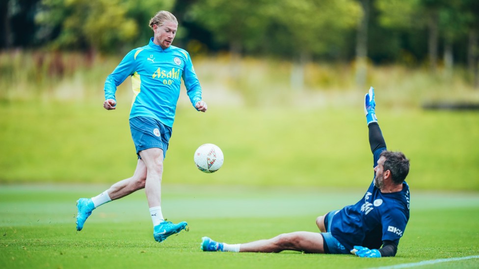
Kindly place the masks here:
[[(150, 18), (174, 0), (42, 0), (36, 22), (54, 49), (116, 52), (152, 36)], [(142, 26), (139, 26), (142, 25)]]

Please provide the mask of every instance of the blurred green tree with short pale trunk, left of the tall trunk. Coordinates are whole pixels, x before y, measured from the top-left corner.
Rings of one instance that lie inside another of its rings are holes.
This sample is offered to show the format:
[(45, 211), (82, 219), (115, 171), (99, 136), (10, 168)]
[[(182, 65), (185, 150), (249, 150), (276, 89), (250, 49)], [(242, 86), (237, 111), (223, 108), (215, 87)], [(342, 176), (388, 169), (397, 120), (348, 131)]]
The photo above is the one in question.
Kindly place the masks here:
[(268, 1), (268, 31), (274, 32), (271, 46), (283, 48), (283, 57), (292, 57), (291, 86), (304, 87), (304, 67), (314, 56), (341, 50), (345, 34), (361, 18), (355, 0)]

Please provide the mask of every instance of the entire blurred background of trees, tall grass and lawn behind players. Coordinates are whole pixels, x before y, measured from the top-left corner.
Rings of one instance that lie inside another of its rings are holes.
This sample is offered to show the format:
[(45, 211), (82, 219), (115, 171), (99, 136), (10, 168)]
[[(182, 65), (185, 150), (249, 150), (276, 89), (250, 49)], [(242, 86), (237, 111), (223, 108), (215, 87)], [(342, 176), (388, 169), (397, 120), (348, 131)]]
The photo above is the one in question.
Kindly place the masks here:
[[(131, 81), (114, 112), (103, 85), (159, 10), (209, 104), (199, 115), (182, 94), (164, 183), (365, 186), (374, 86), (410, 185), (479, 190), (477, 0), (1, 0), (1, 184), (133, 174)], [(193, 164), (204, 143), (225, 154), (211, 175)]]

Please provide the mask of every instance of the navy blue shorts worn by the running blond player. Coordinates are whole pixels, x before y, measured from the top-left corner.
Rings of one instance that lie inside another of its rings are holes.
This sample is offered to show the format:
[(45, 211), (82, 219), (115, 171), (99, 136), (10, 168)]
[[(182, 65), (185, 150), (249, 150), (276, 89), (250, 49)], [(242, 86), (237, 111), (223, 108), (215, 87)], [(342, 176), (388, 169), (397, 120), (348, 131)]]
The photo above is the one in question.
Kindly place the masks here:
[(138, 159), (139, 152), (144, 149), (158, 147), (163, 150), (163, 159), (170, 141), (172, 129), (160, 121), (149, 117), (134, 117), (130, 119), (130, 130)]

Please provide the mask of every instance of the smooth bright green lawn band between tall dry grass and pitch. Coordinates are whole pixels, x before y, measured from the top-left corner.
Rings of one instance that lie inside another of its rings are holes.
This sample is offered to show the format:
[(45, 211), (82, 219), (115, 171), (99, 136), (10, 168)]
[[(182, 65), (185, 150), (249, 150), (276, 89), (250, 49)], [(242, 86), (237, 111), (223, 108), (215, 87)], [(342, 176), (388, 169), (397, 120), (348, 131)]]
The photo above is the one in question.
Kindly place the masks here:
[[(129, 102), (0, 105), (0, 182), (116, 182), (136, 165)], [(411, 159), (414, 190), (479, 191), (479, 113), (378, 107), (391, 150)], [(197, 171), (195, 149), (213, 143), (225, 154), (214, 174)], [(362, 187), (373, 174), (368, 131), (354, 107), (248, 108), (180, 103), (163, 182), (249, 186)]]

